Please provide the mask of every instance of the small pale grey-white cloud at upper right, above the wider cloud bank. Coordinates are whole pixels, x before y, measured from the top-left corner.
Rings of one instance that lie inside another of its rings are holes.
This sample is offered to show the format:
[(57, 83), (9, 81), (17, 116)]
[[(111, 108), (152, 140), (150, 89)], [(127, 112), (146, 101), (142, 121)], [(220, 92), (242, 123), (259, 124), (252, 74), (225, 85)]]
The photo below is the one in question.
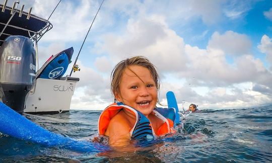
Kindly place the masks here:
[(225, 53), (239, 56), (249, 53), (251, 41), (244, 34), (226, 31), (223, 35), (215, 32), (208, 45), (209, 49), (220, 49)]

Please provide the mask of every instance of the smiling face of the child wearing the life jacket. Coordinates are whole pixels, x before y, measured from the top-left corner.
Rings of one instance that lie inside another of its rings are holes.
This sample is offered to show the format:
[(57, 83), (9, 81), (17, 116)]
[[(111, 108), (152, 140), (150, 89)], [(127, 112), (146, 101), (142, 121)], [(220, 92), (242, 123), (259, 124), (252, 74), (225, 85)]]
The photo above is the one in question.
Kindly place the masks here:
[(158, 93), (155, 81), (149, 69), (139, 65), (130, 65), (124, 69), (120, 79), (120, 94), (115, 93), (115, 98), (145, 116), (148, 116), (156, 106)]

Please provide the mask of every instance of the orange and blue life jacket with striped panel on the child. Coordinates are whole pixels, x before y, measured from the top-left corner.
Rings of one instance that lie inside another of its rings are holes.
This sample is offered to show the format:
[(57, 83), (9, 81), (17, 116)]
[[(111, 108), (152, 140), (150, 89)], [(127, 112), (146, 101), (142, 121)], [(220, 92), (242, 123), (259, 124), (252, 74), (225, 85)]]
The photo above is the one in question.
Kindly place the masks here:
[[(149, 119), (141, 112), (124, 105), (123, 103), (114, 103), (108, 106), (100, 115), (98, 120), (98, 132), (100, 135), (104, 135), (110, 120), (119, 112), (119, 110), (125, 109), (131, 112), (135, 116), (135, 124), (130, 130), (130, 137), (134, 139), (154, 139), (157, 136), (161, 136), (167, 133), (172, 133), (175, 121), (175, 109), (174, 108), (154, 108), (153, 114), (164, 121), (164, 124), (160, 126), (157, 132), (152, 128)], [(179, 118), (179, 117), (178, 117)]]

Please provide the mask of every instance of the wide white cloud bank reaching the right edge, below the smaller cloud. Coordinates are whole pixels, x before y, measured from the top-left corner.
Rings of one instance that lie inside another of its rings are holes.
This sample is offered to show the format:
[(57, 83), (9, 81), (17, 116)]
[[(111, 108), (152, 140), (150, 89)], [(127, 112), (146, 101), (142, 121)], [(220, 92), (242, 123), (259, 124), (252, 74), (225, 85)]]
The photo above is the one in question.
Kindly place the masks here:
[(261, 60), (252, 55), (238, 56), (230, 64), (222, 50), (199, 49), (186, 45), (185, 53), (190, 64), (178, 76), (186, 77), (187, 82), (193, 86), (227, 87), (248, 81), (270, 85), (267, 79), (272, 74)]

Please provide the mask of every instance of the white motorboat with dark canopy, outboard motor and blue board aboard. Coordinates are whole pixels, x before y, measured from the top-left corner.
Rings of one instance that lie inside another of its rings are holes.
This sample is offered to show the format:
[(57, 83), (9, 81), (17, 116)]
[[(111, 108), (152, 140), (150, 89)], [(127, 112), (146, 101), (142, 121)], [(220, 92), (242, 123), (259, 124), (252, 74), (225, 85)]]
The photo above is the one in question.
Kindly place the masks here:
[(63, 76), (73, 47), (52, 55), (39, 68), (38, 41), (52, 28), (43, 18), (0, 5), (0, 102), (18, 113), (47, 114), (70, 110), (78, 77)]

